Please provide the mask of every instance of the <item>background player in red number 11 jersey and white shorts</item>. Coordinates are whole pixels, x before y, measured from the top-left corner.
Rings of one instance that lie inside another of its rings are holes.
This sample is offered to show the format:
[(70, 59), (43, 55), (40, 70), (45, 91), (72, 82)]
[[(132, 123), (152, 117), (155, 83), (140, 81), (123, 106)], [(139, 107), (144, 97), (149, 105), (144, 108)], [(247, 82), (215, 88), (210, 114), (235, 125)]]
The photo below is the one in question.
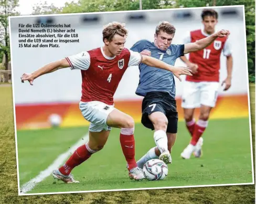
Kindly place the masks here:
[[(201, 13), (204, 27), (191, 31), (185, 43), (195, 42), (215, 33), (218, 23), (218, 13), (213, 9), (204, 9)], [(211, 109), (215, 106), (219, 89), (220, 56), (227, 57), (227, 78), (221, 85), (225, 84), (224, 91), (231, 86), (232, 55), (227, 37), (218, 37), (204, 50), (191, 52), (189, 59), (180, 57), (191, 69), (193, 76), (187, 76), (184, 82), (182, 94), (182, 107), (187, 129), (192, 136), (190, 144), (184, 149), (181, 156), (189, 159), (191, 154), (195, 157), (201, 156), (202, 133), (207, 125)], [(200, 107), (199, 119), (194, 119), (195, 108)]]

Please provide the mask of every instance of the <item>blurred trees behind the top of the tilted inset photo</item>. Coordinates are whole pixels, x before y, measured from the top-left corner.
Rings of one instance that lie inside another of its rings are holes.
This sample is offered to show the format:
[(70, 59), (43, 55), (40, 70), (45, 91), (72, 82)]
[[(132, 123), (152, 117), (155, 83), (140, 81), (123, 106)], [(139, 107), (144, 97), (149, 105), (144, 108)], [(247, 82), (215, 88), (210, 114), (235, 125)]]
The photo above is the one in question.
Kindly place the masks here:
[[(183, 8), (202, 6), (244, 5), (246, 13), (247, 54), (249, 80), (255, 82), (255, 0), (142, 0), (143, 9)], [(19, 15), (15, 11), (18, 0), (0, 0), (0, 62), (10, 60), (8, 16)], [(79, 0), (77, 3), (65, 3), (63, 7), (54, 4), (39, 3), (33, 7), (33, 15), (110, 12), (117, 10), (138, 10), (140, 0)], [(7, 63), (2, 69), (7, 69)]]

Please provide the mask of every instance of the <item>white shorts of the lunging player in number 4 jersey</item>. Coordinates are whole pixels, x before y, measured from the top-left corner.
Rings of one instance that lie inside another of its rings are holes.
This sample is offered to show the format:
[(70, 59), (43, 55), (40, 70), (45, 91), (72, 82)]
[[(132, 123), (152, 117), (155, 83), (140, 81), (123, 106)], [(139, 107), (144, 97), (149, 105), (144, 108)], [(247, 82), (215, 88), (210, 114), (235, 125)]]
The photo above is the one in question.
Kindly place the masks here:
[(84, 119), (90, 122), (89, 131), (100, 132), (102, 130), (111, 130), (111, 127), (106, 124), (106, 119), (115, 109), (114, 105), (108, 105), (100, 101), (80, 101), (79, 108)]

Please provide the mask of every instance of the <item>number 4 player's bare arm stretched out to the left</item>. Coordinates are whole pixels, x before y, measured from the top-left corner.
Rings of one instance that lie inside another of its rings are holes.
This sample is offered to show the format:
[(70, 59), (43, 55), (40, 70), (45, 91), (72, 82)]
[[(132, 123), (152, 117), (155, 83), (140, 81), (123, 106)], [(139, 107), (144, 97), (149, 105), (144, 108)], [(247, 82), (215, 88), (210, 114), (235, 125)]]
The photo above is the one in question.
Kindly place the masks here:
[(30, 85), (33, 85), (34, 79), (42, 76), (43, 74), (54, 72), (58, 69), (67, 67), (70, 67), (67, 59), (61, 59), (55, 62), (51, 62), (32, 73), (24, 73), (22, 74), (22, 77), (20, 77), (20, 79), (22, 80), (22, 83), (24, 83), (24, 81), (28, 81)]

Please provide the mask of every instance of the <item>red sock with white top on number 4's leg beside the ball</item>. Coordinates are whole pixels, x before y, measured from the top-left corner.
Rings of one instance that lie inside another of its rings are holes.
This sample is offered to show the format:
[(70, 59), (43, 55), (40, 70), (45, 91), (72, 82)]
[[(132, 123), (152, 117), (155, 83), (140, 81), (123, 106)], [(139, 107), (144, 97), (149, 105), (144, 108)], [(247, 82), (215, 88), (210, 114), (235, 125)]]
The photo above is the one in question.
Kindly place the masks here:
[(122, 128), (120, 133), (120, 143), (129, 171), (132, 168), (137, 167), (135, 160), (135, 140), (133, 132), (134, 128)]

